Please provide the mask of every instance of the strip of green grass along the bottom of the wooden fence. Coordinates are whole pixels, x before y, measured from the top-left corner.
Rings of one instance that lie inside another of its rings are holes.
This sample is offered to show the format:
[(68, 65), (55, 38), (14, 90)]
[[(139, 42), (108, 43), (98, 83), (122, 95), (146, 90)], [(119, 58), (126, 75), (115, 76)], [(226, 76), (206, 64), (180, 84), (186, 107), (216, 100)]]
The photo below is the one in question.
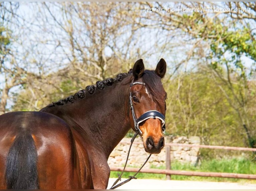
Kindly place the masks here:
[[(164, 166), (152, 166), (151, 168), (165, 169)], [(200, 171), (200, 172), (228, 172), (228, 173), (241, 173), (241, 174), (256, 174), (256, 162), (250, 161), (245, 158), (233, 158), (222, 160), (204, 160), (197, 167), (189, 163), (173, 162), (171, 163), (172, 170), (187, 170), (187, 171)], [(116, 171), (110, 173), (111, 178), (116, 178)], [(124, 172), (123, 178), (133, 176), (134, 172)], [(165, 180), (164, 174), (153, 173), (139, 173), (137, 178), (146, 179), (162, 179)], [(238, 179), (238, 178), (219, 178), (219, 177), (199, 177), (199, 176), (181, 176), (171, 175), (172, 180), (191, 180), (191, 181), (215, 181), (215, 182), (241, 182), (256, 184), (256, 180)]]

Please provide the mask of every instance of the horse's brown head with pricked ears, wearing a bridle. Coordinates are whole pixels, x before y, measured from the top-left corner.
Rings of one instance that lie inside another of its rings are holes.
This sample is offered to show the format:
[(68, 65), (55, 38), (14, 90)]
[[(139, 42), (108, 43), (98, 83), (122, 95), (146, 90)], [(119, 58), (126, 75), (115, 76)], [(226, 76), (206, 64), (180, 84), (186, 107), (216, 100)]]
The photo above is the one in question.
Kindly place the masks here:
[(161, 78), (166, 72), (166, 63), (161, 59), (155, 71), (144, 70), (142, 59), (133, 67), (130, 85), (130, 105), (134, 121), (133, 130), (139, 132), (144, 149), (151, 154), (160, 153), (164, 147), (166, 92)]

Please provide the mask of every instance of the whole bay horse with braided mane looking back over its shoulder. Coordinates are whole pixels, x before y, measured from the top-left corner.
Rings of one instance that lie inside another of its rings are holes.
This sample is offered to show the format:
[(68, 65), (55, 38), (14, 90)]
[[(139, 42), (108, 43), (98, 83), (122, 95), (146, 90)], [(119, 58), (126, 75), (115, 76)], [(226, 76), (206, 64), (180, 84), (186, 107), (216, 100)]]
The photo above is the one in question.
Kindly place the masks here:
[(107, 159), (132, 128), (148, 153), (164, 147), (166, 62), (98, 81), (39, 111), (0, 115), (0, 189), (106, 189)]

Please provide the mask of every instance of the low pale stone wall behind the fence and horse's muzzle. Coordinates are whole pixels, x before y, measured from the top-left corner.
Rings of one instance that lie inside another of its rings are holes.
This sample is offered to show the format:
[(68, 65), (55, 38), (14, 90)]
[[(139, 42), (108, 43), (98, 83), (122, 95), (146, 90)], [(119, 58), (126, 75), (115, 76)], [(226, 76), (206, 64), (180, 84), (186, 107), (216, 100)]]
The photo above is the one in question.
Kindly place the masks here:
[[(108, 159), (110, 166), (124, 166), (127, 153), (130, 147), (131, 138), (124, 138), (112, 151)], [(127, 166), (130, 167), (140, 167), (146, 158), (148, 153), (145, 152), (142, 140), (137, 137), (135, 142), (140, 142), (141, 144), (133, 143), (129, 160)], [(169, 137), (165, 136), (165, 143), (185, 143), (185, 144), (200, 144), (200, 137), (191, 136), (191, 137)], [(159, 154), (152, 154), (149, 161), (146, 163), (145, 168), (150, 166), (165, 166), (166, 154), (165, 148)], [(198, 147), (181, 147), (181, 146), (171, 146), (170, 147), (170, 157), (171, 161), (177, 160), (180, 162), (189, 162), (191, 164), (196, 164), (199, 161), (200, 151)]]

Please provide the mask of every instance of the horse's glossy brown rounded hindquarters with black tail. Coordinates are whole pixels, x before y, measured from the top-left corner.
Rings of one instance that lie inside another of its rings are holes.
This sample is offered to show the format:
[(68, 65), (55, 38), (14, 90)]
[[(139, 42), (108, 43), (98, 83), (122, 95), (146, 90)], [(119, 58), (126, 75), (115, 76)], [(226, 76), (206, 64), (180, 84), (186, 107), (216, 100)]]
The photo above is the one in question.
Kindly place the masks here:
[[(32, 157), (31, 162), (29, 157)], [(25, 168), (29, 165), (32, 168), (31, 163), (36, 162), (34, 172), (38, 177), (33, 184), (36, 186), (37, 181), (38, 188), (69, 189), (79, 184), (74, 173), (76, 157), (72, 131), (65, 121), (55, 115), (36, 111), (0, 115), (0, 189), (8, 185), (9, 188), (19, 188), (13, 186), (13, 182), (31, 173), (32, 170), (26, 172), (27, 169), (17, 166), (22, 160), (26, 160)], [(26, 186), (20, 189), (26, 189)]]

